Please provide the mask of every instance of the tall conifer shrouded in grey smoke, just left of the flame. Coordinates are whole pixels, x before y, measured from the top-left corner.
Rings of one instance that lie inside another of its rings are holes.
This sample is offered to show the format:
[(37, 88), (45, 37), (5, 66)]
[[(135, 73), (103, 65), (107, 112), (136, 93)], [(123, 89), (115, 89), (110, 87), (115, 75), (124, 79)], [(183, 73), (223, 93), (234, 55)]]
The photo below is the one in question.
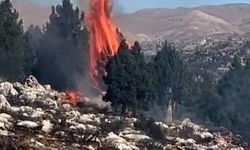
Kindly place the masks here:
[(70, 0), (52, 7), (33, 70), (42, 83), (59, 90), (74, 90), (85, 77), (88, 32), (83, 17)]

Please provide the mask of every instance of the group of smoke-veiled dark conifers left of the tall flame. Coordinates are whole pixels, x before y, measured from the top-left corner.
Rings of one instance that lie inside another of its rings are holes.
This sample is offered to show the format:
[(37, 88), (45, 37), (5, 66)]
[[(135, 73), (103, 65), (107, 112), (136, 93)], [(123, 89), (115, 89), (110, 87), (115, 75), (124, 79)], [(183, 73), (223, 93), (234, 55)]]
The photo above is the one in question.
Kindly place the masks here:
[[(0, 75), (22, 80), (34, 74), (42, 83), (59, 90), (76, 89), (85, 77), (88, 32), (84, 14), (70, 0), (52, 6), (49, 21), (41, 29), (24, 31), (22, 20), (10, 0), (0, 4)], [(65, 89), (66, 88), (66, 89)]]

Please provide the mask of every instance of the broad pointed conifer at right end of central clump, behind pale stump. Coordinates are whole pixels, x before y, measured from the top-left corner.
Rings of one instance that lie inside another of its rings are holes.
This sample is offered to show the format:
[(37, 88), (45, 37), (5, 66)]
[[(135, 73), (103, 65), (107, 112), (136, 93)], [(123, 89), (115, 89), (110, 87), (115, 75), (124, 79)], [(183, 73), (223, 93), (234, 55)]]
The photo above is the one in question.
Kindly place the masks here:
[(189, 73), (175, 47), (165, 42), (152, 60), (158, 104), (165, 106), (170, 99), (180, 104), (190, 100), (193, 77)]

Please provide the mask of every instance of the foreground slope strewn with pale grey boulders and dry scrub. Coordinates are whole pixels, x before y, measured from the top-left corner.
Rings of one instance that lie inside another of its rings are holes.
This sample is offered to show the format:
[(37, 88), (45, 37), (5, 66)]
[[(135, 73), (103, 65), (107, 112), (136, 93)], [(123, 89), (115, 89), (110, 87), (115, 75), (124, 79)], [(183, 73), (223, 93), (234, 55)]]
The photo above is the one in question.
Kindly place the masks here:
[(0, 83), (1, 150), (244, 150), (239, 136), (206, 129), (185, 119), (166, 125), (114, 116), (86, 99), (72, 103), (64, 93), (40, 85)]

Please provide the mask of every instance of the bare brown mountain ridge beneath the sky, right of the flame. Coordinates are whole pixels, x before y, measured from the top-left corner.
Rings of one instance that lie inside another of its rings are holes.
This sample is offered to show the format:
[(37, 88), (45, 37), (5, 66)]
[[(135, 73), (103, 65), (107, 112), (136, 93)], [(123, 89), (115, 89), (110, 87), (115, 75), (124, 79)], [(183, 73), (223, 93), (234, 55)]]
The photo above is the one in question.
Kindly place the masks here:
[(115, 17), (129, 38), (149, 40), (196, 39), (215, 34), (250, 32), (250, 4), (226, 4), (195, 8), (143, 9)]

